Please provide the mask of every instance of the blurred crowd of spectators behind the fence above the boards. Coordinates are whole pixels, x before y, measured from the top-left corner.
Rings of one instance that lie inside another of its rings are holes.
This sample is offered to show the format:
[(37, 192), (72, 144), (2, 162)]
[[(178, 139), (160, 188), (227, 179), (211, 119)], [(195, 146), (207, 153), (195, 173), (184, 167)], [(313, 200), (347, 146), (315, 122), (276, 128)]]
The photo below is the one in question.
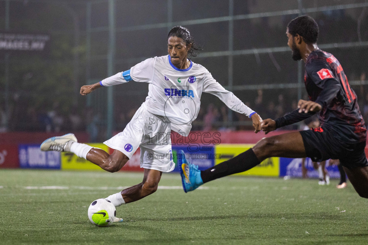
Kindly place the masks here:
[[(365, 80), (365, 73), (361, 74), (361, 80)], [(355, 93), (358, 96), (358, 104), (362, 115), (368, 126), (368, 91), (364, 86), (354, 86)], [(254, 93), (255, 91), (248, 91)], [(291, 111), (297, 109), (297, 100), (287, 101), (284, 94), (275, 94), (272, 98), (265, 98), (263, 90), (256, 91), (257, 96), (254, 101), (243, 101), (245, 105), (256, 111), (263, 119), (279, 118)], [(304, 94), (304, 100), (308, 100), (307, 94)], [(1, 107), (0, 111), (0, 132), (5, 131), (46, 131), (46, 132), (68, 132), (68, 131), (88, 131), (92, 141), (98, 141), (103, 138), (104, 120), (99, 114), (95, 114), (93, 108), (89, 107), (78, 113), (78, 108), (73, 107), (68, 114), (61, 113), (58, 103), (53, 105), (53, 109), (36, 110), (32, 105), (18, 101), (11, 108), (10, 124), (6, 127), (6, 113)], [(216, 106), (214, 103), (202, 102), (197, 119), (192, 123), (192, 130), (252, 130), (251, 119), (243, 114), (233, 112), (232, 123), (229, 123), (229, 108), (222, 104)], [(122, 111), (122, 107), (115, 109), (115, 130), (123, 131), (128, 122), (134, 116), (139, 107), (130, 108), (127, 112)], [(308, 122), (309, 123), (309, 122)], [(307, 124), (308, 124), (307, 123)], [(289, 125), (284, 130), (302, 130), (305, 129), (305, 123)]]

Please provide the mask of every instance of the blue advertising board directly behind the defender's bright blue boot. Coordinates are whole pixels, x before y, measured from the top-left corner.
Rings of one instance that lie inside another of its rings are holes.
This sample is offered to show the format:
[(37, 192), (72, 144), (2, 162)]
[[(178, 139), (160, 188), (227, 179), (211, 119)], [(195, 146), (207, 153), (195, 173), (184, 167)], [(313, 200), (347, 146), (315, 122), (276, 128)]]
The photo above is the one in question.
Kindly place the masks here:
[(205, 170), (209, 167), (215, 166), (215, 149), (213, 145), (199, 145), (199, 146), (176, 146), (172, 145), (173, 160), (175, 163), (174, 172), (179, 172), (180, 166), (177, 164), (178, 154), (180, 150), (184, 151), (185, 158), (195, 165), (198, 165), (199, 170)]

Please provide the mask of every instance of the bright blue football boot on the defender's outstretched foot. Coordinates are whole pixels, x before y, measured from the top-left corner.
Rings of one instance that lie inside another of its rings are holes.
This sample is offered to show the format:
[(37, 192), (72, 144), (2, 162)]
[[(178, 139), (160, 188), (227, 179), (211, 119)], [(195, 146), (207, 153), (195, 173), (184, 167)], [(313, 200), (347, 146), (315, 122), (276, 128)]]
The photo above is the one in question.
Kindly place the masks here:
[(180, 166), (181, 183), (183, 184), (184, 192), (193, 191), (203, 184), (201, 170), (198, 166), (191, 164), (185, 159), (184, 151), (180, 151), (178, 157), (178, 166)]

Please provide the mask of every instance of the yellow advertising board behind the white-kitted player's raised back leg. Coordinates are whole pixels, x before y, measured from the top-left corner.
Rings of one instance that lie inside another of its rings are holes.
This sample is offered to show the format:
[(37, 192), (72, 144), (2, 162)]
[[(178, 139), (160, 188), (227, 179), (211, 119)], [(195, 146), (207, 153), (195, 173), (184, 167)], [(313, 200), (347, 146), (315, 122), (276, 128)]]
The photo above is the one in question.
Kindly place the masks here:
[[(102, 143), (87, 143), (96, 148), (101, 148), (106, 152), (109, 152), (109, 147)], [(61, 169), (63, 170), (103, 170), (99, 166), (87, 161), (84, 158), (80, 158), (71, 152), (61, 152)]]

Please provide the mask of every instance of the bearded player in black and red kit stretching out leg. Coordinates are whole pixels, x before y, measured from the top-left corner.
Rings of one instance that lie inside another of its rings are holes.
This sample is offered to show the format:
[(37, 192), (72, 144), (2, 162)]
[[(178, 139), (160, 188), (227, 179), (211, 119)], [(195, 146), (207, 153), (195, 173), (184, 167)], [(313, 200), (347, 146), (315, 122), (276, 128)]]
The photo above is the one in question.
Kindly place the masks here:
[(368, 161), (364, 153), (367, 130), (357, 96), (339, 61), (317, 47), (318, 25), (314, 19), (308, 16), (293, 19), (286, 35), (293, 59), (305, 62), (304, 81), (309, 101), (300, 100), (298, 109), (282, 118), (264, 120), (262, 130), (267, 134), (316, 112), (321, 126), (263, 138), (248, 151), (205, 171), (179, 158), (183, 161), (181, 175), (185, 192), (210, 180), (251, 169), (266, 158), (282, 156), (309, 157), (315, 162), (339, 159), (355, 190), (368, 198)]

